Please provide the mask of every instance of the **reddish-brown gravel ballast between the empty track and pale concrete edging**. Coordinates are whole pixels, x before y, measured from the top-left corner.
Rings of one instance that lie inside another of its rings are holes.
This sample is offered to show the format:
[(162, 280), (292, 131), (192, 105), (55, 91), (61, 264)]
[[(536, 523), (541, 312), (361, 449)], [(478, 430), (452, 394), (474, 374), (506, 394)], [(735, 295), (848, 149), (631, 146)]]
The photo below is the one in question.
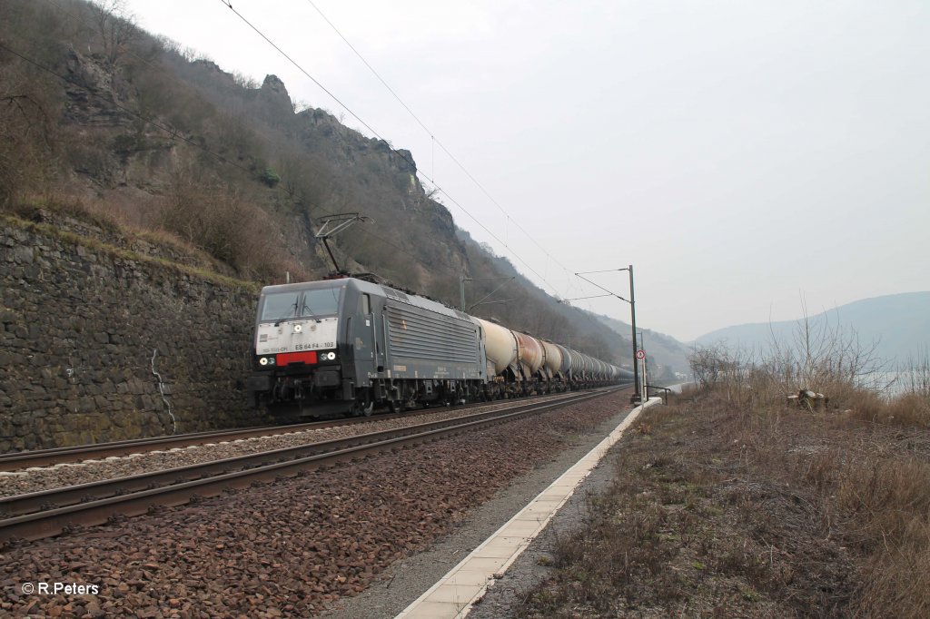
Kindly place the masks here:
[[(600, 441), (629, 410), (627, 397), (6, 547), (0, 612), (269, 617), (344, 604), (326, 612), (392, 616)], [(440, 546), (413, 556), (437, 538)], [(92, 585), (98, 593), (30, 594), (24, 583)], [(379, 590), (389, 593), (379, 598)]]

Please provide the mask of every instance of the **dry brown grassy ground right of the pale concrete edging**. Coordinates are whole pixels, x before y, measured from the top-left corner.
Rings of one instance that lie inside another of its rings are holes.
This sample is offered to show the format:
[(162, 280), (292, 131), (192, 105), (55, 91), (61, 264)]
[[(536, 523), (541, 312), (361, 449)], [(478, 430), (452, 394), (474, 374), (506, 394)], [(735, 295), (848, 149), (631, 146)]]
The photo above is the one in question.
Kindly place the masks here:
[(654, 407), (523, 617), (930, 616), (925, 401)]

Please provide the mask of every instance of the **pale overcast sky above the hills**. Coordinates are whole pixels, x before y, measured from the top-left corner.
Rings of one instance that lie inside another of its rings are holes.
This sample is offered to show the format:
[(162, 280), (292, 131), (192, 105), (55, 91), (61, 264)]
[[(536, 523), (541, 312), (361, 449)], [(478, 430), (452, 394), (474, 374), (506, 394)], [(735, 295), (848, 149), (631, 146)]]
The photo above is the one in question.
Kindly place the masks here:
[[(220, 0), (128, 8), (224, 71), (276, 74), (292, 99), (371, 135)], [(797, 318), (802, 296), (817, 313), (930, 290), (926, 0), (233, 8), (412, 151), (458, 225), (552, 294), (598, 294), (573, 273), (632, 264), (637, 323), (690, 340)], [(590, 277), (629, 294), (625, 272)], [(578, 305), (629, 322), (617, 299)]]

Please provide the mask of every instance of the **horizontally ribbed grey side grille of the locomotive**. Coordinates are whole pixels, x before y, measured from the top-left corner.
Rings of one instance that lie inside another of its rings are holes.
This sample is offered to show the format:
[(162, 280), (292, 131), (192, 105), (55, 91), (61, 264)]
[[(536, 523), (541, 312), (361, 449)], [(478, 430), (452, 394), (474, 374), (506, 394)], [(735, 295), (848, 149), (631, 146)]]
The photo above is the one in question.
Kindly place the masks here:
[(406, 308), (388, 307), (386, 311), (392, 355), (435, 362), (478, 362), (478, 335), (473, 323)]

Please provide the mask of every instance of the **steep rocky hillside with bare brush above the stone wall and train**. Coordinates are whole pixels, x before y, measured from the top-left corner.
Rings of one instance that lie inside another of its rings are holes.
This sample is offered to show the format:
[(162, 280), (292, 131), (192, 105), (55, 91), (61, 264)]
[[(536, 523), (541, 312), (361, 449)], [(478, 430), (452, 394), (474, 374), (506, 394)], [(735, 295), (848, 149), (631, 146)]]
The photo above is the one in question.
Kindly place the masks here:
[[(0, 209), (54, 225), (106, 222), (126, 238), (186, 247), (256, 283), (317, 279), (326, 216), (365, 223), (330, 244), (339, 266), (604, 360), (629, 363), (602, 323), (559, 305), (459, 230), (412, 154), (255, 84), (82, 0), (9, 0), (0, 22)], [(126, 242), (134, 244), (135, 242)], [(156, 250), (157, 251), (157, 250)]]

